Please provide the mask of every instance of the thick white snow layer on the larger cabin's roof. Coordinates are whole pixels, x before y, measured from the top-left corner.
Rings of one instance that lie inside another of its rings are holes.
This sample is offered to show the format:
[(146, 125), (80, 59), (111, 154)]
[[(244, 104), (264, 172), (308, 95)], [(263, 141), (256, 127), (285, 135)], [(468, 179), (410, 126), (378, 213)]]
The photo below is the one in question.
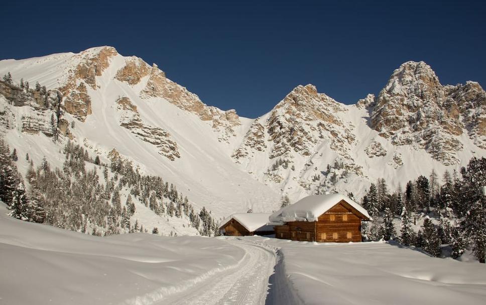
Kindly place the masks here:
[(371, 219), (363, 207), (348, 197), (342, 194), (325, 194), (307, 196), (295, 202), (293, 205), (280, 209), (269, 217), (269, 224), (282, 224), (291, 221), (317, 221), (319, 216), (326, 213), (341, 200), (346, 201), (359, 213)]

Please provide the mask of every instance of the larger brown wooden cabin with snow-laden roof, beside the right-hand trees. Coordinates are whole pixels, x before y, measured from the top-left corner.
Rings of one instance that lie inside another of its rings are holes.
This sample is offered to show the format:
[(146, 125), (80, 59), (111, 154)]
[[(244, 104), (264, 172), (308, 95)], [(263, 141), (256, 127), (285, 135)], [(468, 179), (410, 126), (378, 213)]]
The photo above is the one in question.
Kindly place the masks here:
[(296, 241), (360, 242), (368, 212), (341, 194), (307, 196), (270, 216), (275, 237)]

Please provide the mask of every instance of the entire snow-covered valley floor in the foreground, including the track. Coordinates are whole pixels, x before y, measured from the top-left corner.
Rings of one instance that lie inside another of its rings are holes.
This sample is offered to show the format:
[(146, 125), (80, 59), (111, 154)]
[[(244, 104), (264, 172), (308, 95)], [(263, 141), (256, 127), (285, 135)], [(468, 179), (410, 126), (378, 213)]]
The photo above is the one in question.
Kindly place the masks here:
[(486, 266), (388, 243), (95, 237), (6, 216), (0, 304), (484, 304)]

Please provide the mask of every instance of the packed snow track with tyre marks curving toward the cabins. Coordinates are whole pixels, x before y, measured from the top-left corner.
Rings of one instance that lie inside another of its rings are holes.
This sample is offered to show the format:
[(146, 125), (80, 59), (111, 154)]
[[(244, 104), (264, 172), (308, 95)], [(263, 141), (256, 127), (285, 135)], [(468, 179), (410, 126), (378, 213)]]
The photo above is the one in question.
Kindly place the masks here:
[(275, 253), (246, 241), (227, 242), (245, 251), (245, 256), (235, 268), (217, 273), (192, 287), (190, 291), (171, 295), (159, 304), (265, 304), (269, 277), (276, 262)]

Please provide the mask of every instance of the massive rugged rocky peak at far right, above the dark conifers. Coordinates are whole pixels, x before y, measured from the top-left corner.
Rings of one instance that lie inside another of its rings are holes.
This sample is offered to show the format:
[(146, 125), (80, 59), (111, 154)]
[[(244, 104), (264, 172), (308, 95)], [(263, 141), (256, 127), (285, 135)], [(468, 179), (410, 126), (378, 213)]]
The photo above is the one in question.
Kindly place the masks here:
[(456, 164), (463, 128), (484, 147), (485, 101), (479, 84), (442, 86), (430, 66), (410, 61), (378, 95), (371, 126), (394, 145), (416, 145), (445, 165)]

